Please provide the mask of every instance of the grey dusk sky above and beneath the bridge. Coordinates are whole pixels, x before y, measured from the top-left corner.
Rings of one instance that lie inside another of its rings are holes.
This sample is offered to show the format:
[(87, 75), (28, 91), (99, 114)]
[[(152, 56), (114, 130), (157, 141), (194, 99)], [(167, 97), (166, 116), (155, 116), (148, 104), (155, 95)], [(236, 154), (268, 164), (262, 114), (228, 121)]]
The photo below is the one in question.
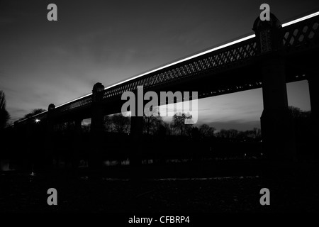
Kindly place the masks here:
[[(57, 20), (47, 21), (47, 5)], [(11, 121), (252, 33), (267, 3), (281, 22), (319, 1), (3, 1), (0, 90)], [(310, 110), (308, 82), (287, 84), (289, 105)], [(198, 121), (217, 129), (260, 127), (262, 89), (198, 101)]]

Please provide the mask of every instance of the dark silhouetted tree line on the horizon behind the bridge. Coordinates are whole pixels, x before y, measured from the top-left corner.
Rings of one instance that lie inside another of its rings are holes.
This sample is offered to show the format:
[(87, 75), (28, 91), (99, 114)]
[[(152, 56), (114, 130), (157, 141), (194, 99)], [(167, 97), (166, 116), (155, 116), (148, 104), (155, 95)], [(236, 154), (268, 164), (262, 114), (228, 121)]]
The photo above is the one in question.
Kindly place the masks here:
[[(30, 113), (23, 116), (21, 119), (30, 118), (36, 114), (40, 114), (45, 109), (33, 109)], [(155, 110), (156, 112), (157, 110)], [(310, 111), (302, 111), (295, 106), (289, 106), (289, 113), (296, 121), (310, 118)], [(185, 114), (174, 114), (170, 123), (163, 121), (157, 111), (157, 114), (143, 117), (143, 133), (146, 135), (180, 135), (199, 138), (227, 138), (227, 139), (245, 139), (245, 138), (261, 138), (260, 128), (253, 128), (250, 131), (238, 131), (236, 129), (221, 129), (216, 131), (216, 128), (203, 123), (200, 126), (188, 125), (184, 121), (187, 118)], [(10, 114), (6, 111), (6, 96), (0, 91), (0, 128), (8, 126)], [(20, 120), (21, 120), (20, 119)], [(72, 128), (72, 123), (64, 123), (57, 126), (60, 131), (68, 131)], [(90, 125), (82, 125), (82, 131), (89, 132)], [(106, 132), (115, 133), (130, 133), (130, 117), (123, 114), (113, 114), (104, 117), (104, 128)]]

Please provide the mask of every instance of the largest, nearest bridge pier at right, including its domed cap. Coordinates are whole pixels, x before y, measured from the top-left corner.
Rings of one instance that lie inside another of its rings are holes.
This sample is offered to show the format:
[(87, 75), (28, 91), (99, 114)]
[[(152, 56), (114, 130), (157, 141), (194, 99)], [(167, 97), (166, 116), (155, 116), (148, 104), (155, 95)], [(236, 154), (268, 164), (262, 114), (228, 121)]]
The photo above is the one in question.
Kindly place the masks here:
[(254, 21), (262, 79), (262, 140), (270, 160), (296, 160), (296, 142), (286, 90), (286, 64), (282, 55), (282, 27), (270, 13), (269, 21)]

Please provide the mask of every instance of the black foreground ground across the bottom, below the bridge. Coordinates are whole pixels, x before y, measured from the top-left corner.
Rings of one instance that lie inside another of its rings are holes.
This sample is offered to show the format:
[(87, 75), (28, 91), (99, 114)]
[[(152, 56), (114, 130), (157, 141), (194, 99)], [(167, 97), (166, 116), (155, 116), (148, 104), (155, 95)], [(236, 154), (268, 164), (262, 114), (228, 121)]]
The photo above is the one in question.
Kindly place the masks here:
[[(135, 177), (128, 179), (128, 175)], [(316, 162), (291, 164), (260, 160), (149, 165), (134, 169), (108, 167), (99, 172), (56, 171), (35, 173), (35, 176), (2, 172), (0, 211), (318, 212), (318, 177)], [(51, 187), (57, 189), (57, 206), (47, 205), (47, 189)], [(259, 204), (262, 196), (259, 191), (264, 187), (270, 190), (270, 206)]]

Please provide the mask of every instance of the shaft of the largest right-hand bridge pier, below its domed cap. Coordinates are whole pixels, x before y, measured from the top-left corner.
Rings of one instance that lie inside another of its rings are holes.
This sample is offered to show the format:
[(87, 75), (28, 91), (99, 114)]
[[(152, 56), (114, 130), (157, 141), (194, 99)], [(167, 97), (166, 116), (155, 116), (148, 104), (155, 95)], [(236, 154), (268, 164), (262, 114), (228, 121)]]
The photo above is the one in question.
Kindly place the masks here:
[(262, 63), (261, 117), (265, 153), (271, 160), (294, 160), (296, 145), (288, 109), (284, 60), (274, 55)]

